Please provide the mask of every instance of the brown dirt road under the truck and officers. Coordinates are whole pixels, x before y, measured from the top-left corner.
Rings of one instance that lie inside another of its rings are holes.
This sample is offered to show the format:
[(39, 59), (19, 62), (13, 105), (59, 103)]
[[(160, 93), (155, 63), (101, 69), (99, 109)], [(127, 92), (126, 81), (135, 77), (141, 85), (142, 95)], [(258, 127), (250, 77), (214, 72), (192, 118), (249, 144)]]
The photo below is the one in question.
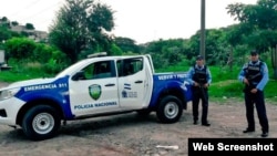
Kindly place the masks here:
[[(267, 102), (270, 132), (277, 137), (277, 104)], [(256, 117), (257, 118), (257, 117)], [(20, 128), (0, 125), (0, 155), (4, 156), (187, 156), (191, 137), (254, 137), (256, 132), (243, 134), (246, 128), (243, 101), (229, 98), (211, 101), (211, 127), (193, 125), (192, 106), (184, 111), (179, 122), (160, 124), (155, 113), (140, 117), (136, 113), (69, 122), (60, 135), (41, 142), (29, 141)], [(175, 146), (177, 149), (158, 148)]]

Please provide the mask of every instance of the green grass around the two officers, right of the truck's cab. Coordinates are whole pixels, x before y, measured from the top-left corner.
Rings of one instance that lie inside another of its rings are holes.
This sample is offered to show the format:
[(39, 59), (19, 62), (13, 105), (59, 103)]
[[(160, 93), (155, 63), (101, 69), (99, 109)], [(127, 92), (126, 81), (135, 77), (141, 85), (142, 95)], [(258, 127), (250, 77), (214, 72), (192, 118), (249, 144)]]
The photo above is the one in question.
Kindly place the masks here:
[[(183, 70), (182, 70), (183, 69)], [(189, 66), (168, 66), (163, 71), (187, 71)], [(212, 73), (212, 84), (209, 87), (209, 97), (214, 100), (225, 98), (243, 98), (244, 84), (238, 81), (238, 74), (242, 66), (233, 66), (230, 70), (228, 66), (209, 66)], [(269, 98), (277, 104), (277, 81), (273, 79), (273, 69), (269, 69), (269, 82), (265, 87), (265, 97)]]

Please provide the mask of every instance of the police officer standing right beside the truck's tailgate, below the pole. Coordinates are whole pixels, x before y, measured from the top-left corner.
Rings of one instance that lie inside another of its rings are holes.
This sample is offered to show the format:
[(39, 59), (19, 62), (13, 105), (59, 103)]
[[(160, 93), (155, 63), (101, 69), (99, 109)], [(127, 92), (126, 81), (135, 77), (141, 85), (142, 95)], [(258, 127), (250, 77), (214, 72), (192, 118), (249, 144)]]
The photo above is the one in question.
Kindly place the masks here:
[(212, 82), (209, 69), (204, 64), (202, 55), (196, 56), (196, 64), (188, 71), (188, 81), (193, 85), (193, 118), (194, 124), (198, 123), (198, 105), (202, 100), (202, 125), (209, 126), (208, 113), (208, 86)]

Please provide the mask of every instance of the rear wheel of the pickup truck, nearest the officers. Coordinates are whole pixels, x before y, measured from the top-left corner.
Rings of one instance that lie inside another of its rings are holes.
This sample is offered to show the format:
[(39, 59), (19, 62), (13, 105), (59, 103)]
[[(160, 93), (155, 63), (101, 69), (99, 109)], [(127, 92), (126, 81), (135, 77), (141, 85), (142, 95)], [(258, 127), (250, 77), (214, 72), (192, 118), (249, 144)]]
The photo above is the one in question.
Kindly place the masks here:
[(172, 95), (163, 97), (158, 104), (156, 115), (162, 123), (176, 123), (183, 114), (182, 102)]

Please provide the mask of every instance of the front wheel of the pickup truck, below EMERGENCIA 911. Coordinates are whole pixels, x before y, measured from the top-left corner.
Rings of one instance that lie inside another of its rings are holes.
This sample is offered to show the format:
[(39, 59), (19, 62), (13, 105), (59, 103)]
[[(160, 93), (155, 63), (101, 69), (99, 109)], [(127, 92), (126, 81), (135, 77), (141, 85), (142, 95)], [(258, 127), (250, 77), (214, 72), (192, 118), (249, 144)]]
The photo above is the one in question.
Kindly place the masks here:
[(33, 141), (48, 139), (58, 134), (61, 119), (58, 112), (48, 105), (31, 107), (22, 119), (22, 129)]

